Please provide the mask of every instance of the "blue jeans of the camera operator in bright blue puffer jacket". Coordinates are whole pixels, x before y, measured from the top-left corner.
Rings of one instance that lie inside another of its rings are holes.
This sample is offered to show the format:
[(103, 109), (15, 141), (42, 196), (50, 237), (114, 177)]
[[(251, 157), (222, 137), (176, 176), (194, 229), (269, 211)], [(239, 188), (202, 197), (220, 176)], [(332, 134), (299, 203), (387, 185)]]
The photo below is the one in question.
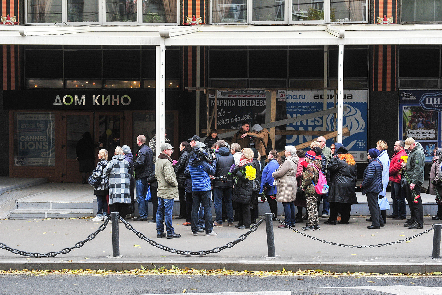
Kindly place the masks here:
[(212, 223), (212, 200), (210, 199), (211, 191), (192, 192), (192, 217), (191, 230), (192, 233), (198, 232), (198, 209), (200, 204), (204, 208), (204, 220), (206, 221), (206, 234), (210, 234), (213, 230)]

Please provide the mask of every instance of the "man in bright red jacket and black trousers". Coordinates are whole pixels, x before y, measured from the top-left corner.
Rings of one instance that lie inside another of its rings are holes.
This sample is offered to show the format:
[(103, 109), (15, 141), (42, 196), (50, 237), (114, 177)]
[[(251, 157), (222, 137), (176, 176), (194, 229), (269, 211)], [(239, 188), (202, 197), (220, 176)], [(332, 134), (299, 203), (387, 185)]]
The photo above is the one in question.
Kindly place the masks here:
[(391, 198), (393, 199), (393, 213), (387, 216), (393, 220), (402, 220), (407, 218), (407, 207), (405, 205), (405, 190), (400, 187), (400, 169), (403, 160), (402, 156), (407, 156), (404, 149), (405, 142), (398, 140), (394, 143), (394, 155), (390, 161)]

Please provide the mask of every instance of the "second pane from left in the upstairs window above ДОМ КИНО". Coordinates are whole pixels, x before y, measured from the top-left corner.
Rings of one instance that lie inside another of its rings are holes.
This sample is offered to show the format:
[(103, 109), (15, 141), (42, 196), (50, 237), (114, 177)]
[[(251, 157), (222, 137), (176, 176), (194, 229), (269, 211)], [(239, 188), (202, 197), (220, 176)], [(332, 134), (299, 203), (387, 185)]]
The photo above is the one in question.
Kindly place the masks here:
[(98, 0), (68, 0), (68, 22), (98, 22)]

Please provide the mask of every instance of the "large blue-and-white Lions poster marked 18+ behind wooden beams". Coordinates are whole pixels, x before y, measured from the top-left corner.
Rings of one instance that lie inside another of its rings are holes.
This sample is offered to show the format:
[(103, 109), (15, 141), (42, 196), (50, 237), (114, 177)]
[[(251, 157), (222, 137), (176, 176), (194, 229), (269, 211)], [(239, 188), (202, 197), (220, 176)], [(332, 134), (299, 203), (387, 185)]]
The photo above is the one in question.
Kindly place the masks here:
[[(333, 91), (327, 92), (327, 108), (335, 107)], [(278, 95), (279, 97), (279, 95)], [(343, 145), (348, 149), (356, 162), (367, 161), (367, 120), (368, 120), (368, 90), (344, 90), (344, 106), (347, 110), (343, 115), (343, 128), (350, 130), (349, 136), (343, 136)], [(324, 110), (324, 91), (322, 90), (287, 90), (286, 91), (287, 118), (306, 115), (315, 111)], [(335, 116), (327, 116), (327, 129), (335, 131)], [(287, 124), (286, 130), (324, 130), (323, 117)], [(310, 141), (317, 136), (287, 135), (287, 145), (297, 146)], [(334, 139), (327, 140), (327, 146), (333, 144)]]

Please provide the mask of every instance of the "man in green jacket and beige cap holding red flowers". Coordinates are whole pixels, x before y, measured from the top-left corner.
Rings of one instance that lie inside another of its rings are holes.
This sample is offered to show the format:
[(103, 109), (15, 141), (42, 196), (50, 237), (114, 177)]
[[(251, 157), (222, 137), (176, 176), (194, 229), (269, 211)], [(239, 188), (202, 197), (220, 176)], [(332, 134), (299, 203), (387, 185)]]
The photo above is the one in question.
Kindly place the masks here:
[(408, 149), (407, 163), (402, 163), (408, 177), (407, 202), (410, 207), (411, 219), (405, 222), (404, 226), (409, 229), (423, 228), (423, 207), (420, 197), (420, 186), (423, 184), (425, 165), (425, 153), (423, 147), (414, 138), (409, 137), (405, 141), (405, 149)]

